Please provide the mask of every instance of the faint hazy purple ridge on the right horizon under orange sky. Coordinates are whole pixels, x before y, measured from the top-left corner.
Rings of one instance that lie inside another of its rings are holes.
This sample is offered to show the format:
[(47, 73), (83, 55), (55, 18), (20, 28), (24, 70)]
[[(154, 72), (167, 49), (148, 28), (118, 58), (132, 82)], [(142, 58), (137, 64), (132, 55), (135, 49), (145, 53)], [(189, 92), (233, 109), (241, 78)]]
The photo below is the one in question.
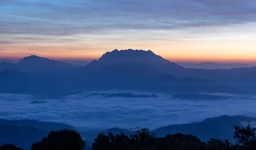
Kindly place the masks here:
[(196, 69), (232, 69), (232, 68), (249, 68), (256, 65), (246, 64), (246, 63), (214, 63), (214, 62), (204, 62), (204, 63), (177, 63), (185, 68), (196, 68)]

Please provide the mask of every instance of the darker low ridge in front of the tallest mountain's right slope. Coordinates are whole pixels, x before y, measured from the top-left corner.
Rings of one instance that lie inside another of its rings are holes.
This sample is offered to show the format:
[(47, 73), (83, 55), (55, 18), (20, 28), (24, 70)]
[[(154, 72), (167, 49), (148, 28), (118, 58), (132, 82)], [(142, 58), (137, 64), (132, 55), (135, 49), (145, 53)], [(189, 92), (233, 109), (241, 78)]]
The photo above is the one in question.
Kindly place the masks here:
[(177, 93), (197, 93), (197, 92), (224, 92), (240, 93), (244, 91), (239, 88), (233, 88), (229, 85), (218, 83), (214, 80), (204, 78), (186, 77), (178, 78), (172, 74), (157, 75), (147, 78), (143, 83), (134, 86), (137, 90), (149, 90), (151, 92), (175, 92)]

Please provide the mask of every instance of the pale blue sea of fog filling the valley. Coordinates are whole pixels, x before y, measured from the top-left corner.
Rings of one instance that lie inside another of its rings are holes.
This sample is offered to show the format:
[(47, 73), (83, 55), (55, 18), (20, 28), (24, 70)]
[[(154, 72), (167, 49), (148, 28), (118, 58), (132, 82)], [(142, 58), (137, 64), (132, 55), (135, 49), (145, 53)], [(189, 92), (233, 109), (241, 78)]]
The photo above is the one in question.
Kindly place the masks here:
[(48, 101), (40, 104), (30, 104), (36, 100), (31, 95), (0, 94), (0, 118), (64, 122), (80, 130), (103, 131), (111, 127), (155, 129), (220, 115), (256, 116), (256, 98), (246, 96), (196, 101), (172, 99), (172, 95), (162, 93), (154, 93), (158, 98), (106, 98), (92, 93), (95, 92), (68, 95), (62, 102), (54, 99), (38, 100)]

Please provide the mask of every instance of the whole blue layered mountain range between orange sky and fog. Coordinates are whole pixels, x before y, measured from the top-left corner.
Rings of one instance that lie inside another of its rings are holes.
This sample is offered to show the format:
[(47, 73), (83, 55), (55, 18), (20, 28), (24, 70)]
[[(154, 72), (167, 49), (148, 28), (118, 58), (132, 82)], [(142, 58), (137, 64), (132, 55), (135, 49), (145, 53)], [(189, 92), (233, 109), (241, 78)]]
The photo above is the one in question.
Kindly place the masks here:
[[(0, 92), (34, 94), (67, 90), (133, 89), (156, 92), (253, 93), (256, 67), (193, 69), (148, 50), (113, 50), (84, 67), (35, 55), (0, 63)], [(8, 80), (7, 80), (8, 78)], [(242, 85), (242, 86), (241, 86)], [(10, 87), (11, 86), (11, 87)], [(10, 87), (10, 88), (5, 88)], [(19, 91), (19, 88), (23, 89)], [(25, 90), (26, 89), (26, 90)], [(21, 92), (22, 91), (22, 92)]]

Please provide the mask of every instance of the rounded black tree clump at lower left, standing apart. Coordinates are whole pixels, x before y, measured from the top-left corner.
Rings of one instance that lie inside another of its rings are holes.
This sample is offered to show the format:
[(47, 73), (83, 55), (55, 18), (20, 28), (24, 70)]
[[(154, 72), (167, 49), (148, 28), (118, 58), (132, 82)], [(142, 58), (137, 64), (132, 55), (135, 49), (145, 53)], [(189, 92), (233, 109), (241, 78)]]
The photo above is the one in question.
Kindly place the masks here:
[(75, 130), (51, 131), (41, 141), (33, 143), (31, 150), (83, 150), (85, 141)]

